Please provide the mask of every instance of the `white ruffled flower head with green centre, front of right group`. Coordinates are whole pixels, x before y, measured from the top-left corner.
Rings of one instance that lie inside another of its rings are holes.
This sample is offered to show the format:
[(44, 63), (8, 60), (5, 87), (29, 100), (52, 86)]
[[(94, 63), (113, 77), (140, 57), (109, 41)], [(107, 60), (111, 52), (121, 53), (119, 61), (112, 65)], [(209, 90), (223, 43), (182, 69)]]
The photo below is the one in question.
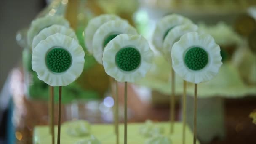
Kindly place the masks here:
[(220, 47), (213, 37), (197, 32), (189, 32), (174, 43), (171, 58), (177, 75), (195, 84), (211, 80), (222, 65)]

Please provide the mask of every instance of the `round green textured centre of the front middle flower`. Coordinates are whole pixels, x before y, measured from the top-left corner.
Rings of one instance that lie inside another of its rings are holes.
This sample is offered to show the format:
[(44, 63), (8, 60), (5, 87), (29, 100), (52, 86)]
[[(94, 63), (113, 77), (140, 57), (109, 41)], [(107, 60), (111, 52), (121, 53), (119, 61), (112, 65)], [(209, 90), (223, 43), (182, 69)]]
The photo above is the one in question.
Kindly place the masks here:
[(141, 55), (136, 48), (122, 48), (117, 52), (115, 62), (119, 69), (129, 72), (139, 67)]

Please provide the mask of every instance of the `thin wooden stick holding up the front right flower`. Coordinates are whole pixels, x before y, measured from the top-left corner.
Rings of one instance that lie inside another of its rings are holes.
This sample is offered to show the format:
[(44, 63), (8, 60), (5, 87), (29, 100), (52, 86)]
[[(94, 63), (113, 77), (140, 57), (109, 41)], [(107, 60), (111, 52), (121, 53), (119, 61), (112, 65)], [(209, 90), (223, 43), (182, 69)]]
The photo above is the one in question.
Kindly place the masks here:
[(194, 140), (193, 144), (197, 141), (197, 84), (195, 83), (195, 93), (194, 93)]

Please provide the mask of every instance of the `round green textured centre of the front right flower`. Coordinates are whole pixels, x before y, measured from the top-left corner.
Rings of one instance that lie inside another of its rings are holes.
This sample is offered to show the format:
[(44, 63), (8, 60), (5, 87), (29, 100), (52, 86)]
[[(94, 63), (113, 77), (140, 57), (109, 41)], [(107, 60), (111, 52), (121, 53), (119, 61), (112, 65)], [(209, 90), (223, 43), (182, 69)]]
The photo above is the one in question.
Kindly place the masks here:
[(185, 53), (186, 66), (191, 70), (201, 70), (208, 64), (208, 53), (199, 47), (192, 47)]

